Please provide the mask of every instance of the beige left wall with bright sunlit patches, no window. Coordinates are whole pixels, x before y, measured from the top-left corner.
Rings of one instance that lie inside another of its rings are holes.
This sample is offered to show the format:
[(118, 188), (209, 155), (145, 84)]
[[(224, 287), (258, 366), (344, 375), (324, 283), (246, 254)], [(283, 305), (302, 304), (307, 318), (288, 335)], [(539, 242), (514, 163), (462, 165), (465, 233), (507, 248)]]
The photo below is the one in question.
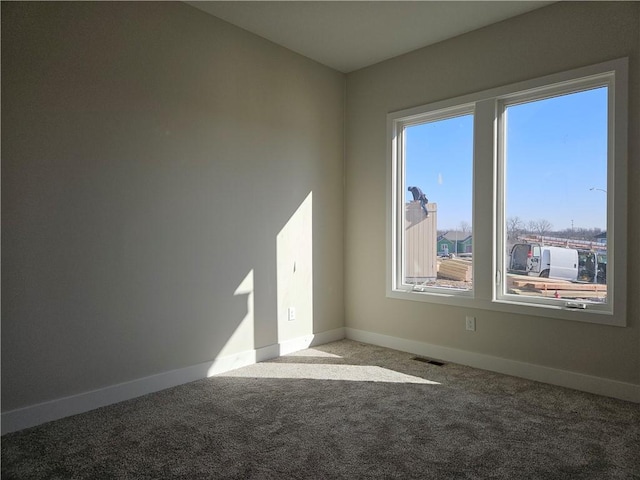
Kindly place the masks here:
[(182, 3), (3, 2), (3, 411), (343, 326), (344, 82)]

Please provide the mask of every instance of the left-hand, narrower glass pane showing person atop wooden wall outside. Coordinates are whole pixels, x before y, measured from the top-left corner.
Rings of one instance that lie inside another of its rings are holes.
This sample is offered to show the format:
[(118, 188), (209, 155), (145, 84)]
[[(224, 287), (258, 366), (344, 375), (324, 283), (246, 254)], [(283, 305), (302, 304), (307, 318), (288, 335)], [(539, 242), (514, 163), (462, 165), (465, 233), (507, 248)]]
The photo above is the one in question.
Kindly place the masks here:
[(404, 129), (403, 283), (472, 288), (473, 115)]

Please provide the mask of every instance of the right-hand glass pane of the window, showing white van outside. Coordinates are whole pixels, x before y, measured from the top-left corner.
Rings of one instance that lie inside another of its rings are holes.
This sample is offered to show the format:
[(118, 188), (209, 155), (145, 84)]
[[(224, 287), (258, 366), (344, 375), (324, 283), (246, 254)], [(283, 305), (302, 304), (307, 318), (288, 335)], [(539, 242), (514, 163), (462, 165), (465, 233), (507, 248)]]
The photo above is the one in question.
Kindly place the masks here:
[(505, 113), (505, 293), (606, 302), (607, 87)]

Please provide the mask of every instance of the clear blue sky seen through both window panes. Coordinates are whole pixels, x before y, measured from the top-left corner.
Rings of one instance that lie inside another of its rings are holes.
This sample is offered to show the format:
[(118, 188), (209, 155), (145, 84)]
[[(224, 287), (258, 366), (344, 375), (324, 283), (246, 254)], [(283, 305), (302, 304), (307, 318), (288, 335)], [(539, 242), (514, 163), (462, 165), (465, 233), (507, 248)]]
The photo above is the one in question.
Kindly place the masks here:
[[(438, 204), (439, 230), (471, 225), (472, 137), (472, 115), (407, 128), (406, 186)], [(606, 153), (606, 87), (508, 107), (507, 217), (606, 230)]]

